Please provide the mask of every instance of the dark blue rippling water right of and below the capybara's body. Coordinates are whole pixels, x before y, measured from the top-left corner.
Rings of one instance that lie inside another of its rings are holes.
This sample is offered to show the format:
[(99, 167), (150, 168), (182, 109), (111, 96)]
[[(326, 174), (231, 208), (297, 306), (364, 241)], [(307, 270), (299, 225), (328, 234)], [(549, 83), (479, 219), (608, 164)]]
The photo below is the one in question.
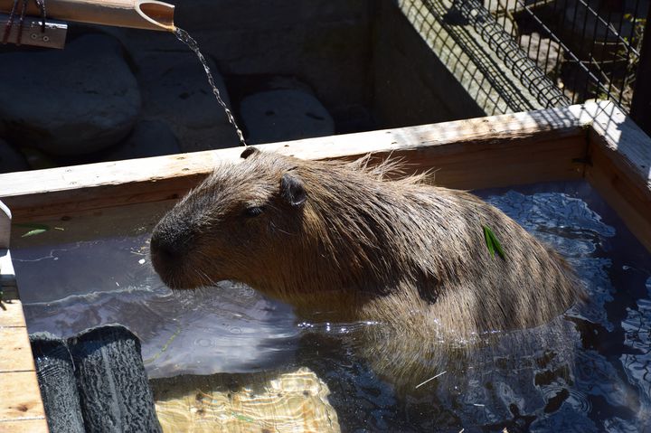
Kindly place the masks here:
[[(388, 431), (651, 428), (646, 250), (587, 184), (480, 195), (559, 249), (577, 268), (590, 301), (550, 324), (486, 335), (473, 344), (428, 342), (377, 326), (350, 339), (336, 333), (319, 343), (304, 338), (301, 351), (311, 353), (310, 367), (344, 385), (331, 397), (343, 425)], [(340, 346), (353, 355), (333, 355)], [(395, 400), (387, 404), (373, 391)], [(360, 412), (377, 416), (361, 422)]]

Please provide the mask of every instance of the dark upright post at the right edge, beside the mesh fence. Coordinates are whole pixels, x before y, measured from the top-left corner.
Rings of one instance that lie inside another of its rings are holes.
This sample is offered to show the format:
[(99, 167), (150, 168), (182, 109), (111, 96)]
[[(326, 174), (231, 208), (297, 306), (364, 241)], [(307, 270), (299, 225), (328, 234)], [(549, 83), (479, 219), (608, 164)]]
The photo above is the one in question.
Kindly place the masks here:
[(643, 38), (630, 116), (647, 136), (651, 136), (651, 8), (646, 14)]

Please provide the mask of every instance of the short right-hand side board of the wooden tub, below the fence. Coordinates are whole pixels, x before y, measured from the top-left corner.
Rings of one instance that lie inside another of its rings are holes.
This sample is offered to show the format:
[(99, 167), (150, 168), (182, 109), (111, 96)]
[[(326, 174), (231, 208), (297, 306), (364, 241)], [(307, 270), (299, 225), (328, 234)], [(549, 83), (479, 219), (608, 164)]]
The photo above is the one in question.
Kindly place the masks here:
[(651, 138), (612, 103), (599, 104), (586, 178), (651, 251)]

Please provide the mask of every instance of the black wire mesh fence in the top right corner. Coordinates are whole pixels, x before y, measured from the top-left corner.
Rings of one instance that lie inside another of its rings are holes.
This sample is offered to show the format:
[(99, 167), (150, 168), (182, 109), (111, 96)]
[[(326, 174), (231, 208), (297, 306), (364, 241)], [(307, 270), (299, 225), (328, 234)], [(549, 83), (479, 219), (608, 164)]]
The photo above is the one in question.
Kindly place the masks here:
[(571, 103), (611, 99), (629, 111), (636, 81), (651, 80), (637, 74), (649, 0), (479, 1), (456, 4), (490, 14)]

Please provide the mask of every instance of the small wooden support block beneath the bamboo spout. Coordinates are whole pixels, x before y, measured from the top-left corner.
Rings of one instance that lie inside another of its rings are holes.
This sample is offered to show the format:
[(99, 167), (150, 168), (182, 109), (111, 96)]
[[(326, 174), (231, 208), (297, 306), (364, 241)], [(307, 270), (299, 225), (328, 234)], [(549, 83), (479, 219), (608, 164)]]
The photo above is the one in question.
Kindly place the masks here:
[[(5, 25), (8, 22), (9, 15), (0, 14), (0, 30), (5, 29)], [(68, 33), (68, 24), (62, 21), (45, 20), (45, 32), (41, 32), (41, 23), (42, 20), (40, 18), (34, 18), (33, 16), (24, 17), (21, 44), (45, 48), (63, 48), (65, 46), (66, 34)], [(18, 42), (19, 30), (21, 30), (20, 16), (15, 16), (7, 42)]]

